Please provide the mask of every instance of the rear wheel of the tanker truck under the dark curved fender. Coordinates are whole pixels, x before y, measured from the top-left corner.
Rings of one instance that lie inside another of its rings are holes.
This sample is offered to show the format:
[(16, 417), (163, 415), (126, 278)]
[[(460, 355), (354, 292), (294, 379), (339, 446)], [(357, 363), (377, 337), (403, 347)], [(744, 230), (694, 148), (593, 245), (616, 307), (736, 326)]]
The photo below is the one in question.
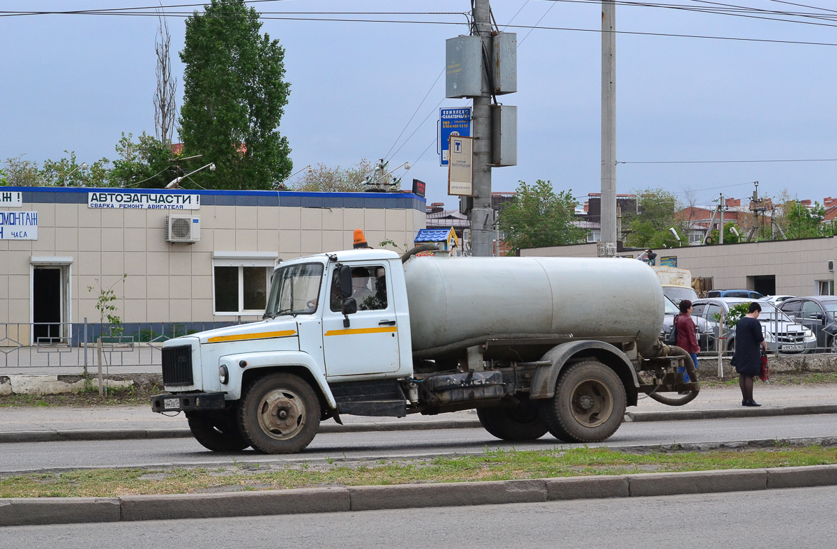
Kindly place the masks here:
[(555, 396), (540, 401), (541, 418), (556, 439), (601, 442), (616, 432), (627, 398), (616, 372), (596, 360), (567, 367), (558, 376)]

